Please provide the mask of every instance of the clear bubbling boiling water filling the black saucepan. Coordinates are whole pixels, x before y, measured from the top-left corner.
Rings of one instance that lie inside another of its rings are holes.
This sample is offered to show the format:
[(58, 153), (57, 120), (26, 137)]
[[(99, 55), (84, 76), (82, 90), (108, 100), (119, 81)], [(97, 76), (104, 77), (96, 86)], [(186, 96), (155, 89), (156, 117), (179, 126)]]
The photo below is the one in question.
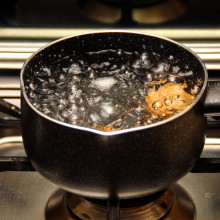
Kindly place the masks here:
[(61, 122), (103, 131), (152, 124), (191, 104), (202, 85), (172, 55), (152, 57), (159, 60), (120, 49), (73, 54), (28, 76), (25, 89), (34, 107)]

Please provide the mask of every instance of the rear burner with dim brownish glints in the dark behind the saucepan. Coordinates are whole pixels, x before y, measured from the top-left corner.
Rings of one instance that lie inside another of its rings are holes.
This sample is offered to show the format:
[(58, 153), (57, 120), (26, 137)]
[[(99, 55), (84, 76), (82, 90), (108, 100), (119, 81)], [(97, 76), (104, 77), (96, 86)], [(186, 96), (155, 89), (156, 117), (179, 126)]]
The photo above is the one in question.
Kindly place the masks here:
[(85, 0), (80, 3), (84, 16), (109, 24), (162, 24), (187, 11), (186, 0)]

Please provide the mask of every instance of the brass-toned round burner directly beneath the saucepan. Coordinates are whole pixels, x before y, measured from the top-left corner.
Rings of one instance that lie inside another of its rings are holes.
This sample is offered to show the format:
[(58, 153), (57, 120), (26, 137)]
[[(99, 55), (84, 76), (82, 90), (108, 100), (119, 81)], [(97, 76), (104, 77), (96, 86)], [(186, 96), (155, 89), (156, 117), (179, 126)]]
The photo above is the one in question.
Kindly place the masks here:
[[(83, 198), (62, 190), (50, 197), (46, 210), (47, 220), (104, 220), (106, 214), (105, 201)], [(152, 196), (121, 200), (120, 219), (195, 220), (195, 207), (183, 188), (175, 185)]]

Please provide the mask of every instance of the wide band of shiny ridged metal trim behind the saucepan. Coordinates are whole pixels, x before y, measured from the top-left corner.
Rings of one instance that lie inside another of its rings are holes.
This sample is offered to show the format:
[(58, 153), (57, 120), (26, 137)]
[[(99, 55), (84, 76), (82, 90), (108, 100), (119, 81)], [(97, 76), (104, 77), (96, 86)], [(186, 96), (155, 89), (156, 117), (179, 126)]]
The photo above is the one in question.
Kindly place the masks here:
[[(0, 28), (0, 69), (21, 69), (25, 60), (45, 44), (92, 28)], [(107, 29), (108, 30), (108, 29)], [(128, 30), (120, 29), (120, 30)], [(132, 29), (177, 40), (197, 53), (208, 70), (220, 69), (220, 29)]]

